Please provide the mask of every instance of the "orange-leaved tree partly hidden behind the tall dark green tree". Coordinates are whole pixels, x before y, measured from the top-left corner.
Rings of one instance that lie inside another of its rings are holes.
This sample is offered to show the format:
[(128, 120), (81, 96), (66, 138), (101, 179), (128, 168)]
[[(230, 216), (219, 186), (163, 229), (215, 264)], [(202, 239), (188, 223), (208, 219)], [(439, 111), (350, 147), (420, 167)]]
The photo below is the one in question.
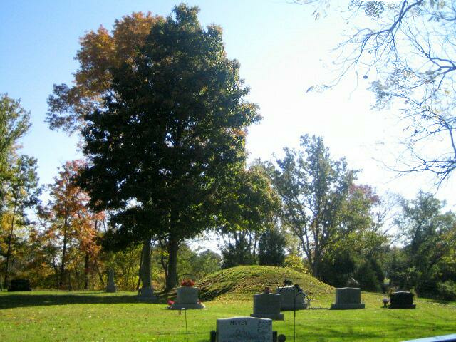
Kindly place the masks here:
[[(136, 12), (115, 20), (111, 33), (100, 26), (81, 38), (81, 48), (75, 58), (79, 68), (74, 73), (73, 86), (55, 84), (48, 97), (46, 121), (52, 130), (65, 130), (68, 134), (80, 132), (84, 115), (102, 108), (105, 96), (115, 98), (112, 70), (133, 63), (157, 19), (150, 12)], [(150, 241), (146, 239), (143, 243), (150, 249), (147, 246)]]

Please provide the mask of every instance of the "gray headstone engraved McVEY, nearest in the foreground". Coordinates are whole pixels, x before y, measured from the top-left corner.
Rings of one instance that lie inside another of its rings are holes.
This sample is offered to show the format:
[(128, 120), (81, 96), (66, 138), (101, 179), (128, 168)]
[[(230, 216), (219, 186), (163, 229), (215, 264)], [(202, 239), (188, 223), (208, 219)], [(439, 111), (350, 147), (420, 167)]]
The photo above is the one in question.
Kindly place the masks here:
[(272, 321), (267, 318), (217, 319), (217, 342), (272, 342)]

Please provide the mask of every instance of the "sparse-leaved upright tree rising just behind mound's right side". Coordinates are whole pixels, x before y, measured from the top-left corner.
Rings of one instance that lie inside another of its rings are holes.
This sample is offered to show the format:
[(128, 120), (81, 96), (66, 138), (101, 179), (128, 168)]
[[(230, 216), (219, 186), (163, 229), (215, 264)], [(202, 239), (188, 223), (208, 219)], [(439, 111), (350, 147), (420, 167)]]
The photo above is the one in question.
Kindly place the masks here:
[(285, 149), (272, 172), (283, 202), (282, 220), (298, 237), (314, 276), (320, 276), (323, 254), (355, 229), (347, 215), (355, 177), (345, 160), (332, 160), (322, 138), (301, 137), (301, 150)]

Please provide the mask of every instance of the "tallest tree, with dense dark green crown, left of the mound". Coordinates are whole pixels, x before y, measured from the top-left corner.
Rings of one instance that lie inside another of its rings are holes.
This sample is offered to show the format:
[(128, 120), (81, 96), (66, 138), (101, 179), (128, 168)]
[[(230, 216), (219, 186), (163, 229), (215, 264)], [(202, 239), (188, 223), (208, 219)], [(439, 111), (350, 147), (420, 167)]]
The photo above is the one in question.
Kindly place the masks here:
[(198, 11), (180, 5), (157, 19), (138, 56), (110, 69), (113, 94), (83, 130), (81, 185), (94, 207), (113, 210), (125, 241), (167, 239), (167, 289), (177, 283), (179, 243), (212, 226), (222, 187), (244, 168), (247, 127), (259, 120), (221, 28), (203, 28)]

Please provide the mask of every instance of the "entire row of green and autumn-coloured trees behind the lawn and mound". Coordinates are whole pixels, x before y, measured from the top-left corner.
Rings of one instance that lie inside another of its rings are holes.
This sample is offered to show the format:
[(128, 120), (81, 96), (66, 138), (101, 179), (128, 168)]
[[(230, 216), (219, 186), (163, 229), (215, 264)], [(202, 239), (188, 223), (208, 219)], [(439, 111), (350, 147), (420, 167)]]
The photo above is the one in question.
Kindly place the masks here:
[[(380, 291), (387, 278), (454, 296), (455, 217), (432, 195), (380, 198), (310, 135), (281, 158), (247, 165), (258, 106), (222, 29), (202, 27), (198, 11), (133, 13), (81, 38), (73, 86), (54, 86), (46, 120), (78, 133), (85, 159), (61, 167), (46, 204), (36, 160), (16, 155), (29, 115), (3, 95), (4, 284), (26, 276), (39, 287), (100, 289), (110, 268), (123, 289), (170, 291), (185, 275), (271, 264), (334, 286), (353, 276)], [(195, 250), (208, 234), (222, 255)]]

